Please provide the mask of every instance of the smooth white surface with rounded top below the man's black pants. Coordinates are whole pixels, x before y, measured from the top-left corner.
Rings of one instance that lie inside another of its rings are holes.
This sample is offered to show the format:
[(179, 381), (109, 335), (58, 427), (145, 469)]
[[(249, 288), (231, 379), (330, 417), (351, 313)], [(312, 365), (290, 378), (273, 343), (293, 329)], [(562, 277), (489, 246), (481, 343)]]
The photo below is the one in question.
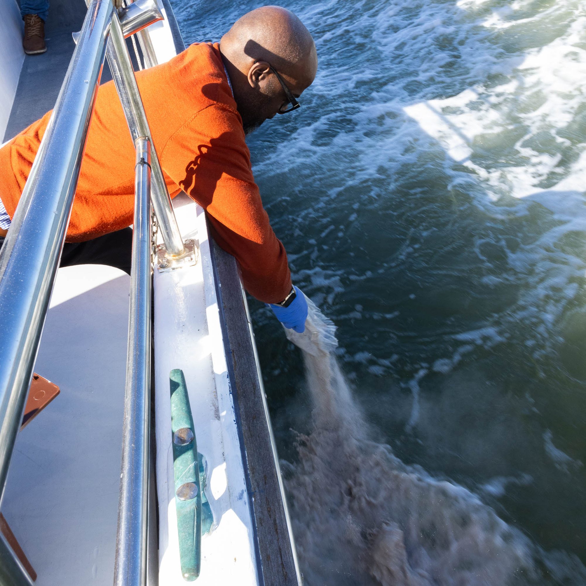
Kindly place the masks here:
[(35, 372), (61, 390), (19, 433), (2, 513), (37, 586), (111, 586), (130, 277), (102, 265), (57, 273)]

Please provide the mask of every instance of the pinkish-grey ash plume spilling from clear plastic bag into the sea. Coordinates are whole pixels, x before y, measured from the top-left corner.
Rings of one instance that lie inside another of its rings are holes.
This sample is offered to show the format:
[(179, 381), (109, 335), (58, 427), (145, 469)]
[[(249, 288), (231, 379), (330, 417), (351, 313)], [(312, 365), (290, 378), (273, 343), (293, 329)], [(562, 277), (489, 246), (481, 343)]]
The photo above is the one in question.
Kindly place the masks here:
[(285, 486), (307, 586), (586, 583), (577, 557), (544, 551), (454, 482), (405, 465), (372, 433), (336, 362), (335, 326), (310, 304), (301, 347), (314, 431)]

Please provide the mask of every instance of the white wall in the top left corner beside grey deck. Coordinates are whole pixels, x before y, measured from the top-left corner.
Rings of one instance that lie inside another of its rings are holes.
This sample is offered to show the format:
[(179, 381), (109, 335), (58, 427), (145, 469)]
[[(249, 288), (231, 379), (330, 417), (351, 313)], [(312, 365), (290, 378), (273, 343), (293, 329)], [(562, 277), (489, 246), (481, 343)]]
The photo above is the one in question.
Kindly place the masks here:
[(12, 110), (25, 52), (22, 18), (16, 0), (0, 0), (0, 142)]

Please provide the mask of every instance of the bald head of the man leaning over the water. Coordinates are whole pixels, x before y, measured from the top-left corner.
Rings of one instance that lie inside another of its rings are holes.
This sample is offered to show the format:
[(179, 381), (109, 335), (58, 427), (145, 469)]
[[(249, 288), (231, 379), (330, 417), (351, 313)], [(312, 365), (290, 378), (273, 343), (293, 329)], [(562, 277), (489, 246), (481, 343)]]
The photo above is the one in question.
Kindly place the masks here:
[(286, 108), (315, 79), (318, 58), (305, 25), (285, 8), (263, 6), (241, 16), (220, 40), (245, 130)]

